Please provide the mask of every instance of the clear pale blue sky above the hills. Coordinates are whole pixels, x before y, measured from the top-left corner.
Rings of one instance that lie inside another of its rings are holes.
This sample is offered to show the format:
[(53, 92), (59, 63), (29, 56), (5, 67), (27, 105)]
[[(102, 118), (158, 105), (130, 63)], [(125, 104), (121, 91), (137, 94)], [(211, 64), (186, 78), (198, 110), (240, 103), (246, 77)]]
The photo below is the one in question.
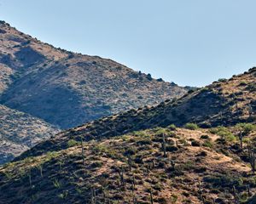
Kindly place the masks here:
[(255, 0), (0, 0), (0, 19), (55, 47), (203, 86), (256, 65)]

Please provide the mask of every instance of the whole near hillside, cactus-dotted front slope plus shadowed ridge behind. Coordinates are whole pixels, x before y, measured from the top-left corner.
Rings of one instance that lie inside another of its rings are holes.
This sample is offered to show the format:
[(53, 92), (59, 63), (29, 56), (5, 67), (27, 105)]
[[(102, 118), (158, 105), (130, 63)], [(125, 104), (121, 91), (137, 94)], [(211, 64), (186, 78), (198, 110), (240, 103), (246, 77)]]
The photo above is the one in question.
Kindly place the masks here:
[(252, 68), (58, 133), (0, 167), (0, 203), (255, 203), (255, 85)]

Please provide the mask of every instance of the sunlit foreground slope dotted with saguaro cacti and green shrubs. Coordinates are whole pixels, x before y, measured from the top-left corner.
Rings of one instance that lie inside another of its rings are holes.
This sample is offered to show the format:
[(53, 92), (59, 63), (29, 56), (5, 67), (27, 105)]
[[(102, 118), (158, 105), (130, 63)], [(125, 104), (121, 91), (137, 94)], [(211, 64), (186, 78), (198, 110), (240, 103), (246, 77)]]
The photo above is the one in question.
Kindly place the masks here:
[[(213, 129), (158, 127), (83, 146), (71, 139), (65, 150), (0, 168), (0, 203), (247, 201), (256, 177), (233, 151), (231, 129), (220, 137)], [(248, 139), (254, 145), (256, 133)]]

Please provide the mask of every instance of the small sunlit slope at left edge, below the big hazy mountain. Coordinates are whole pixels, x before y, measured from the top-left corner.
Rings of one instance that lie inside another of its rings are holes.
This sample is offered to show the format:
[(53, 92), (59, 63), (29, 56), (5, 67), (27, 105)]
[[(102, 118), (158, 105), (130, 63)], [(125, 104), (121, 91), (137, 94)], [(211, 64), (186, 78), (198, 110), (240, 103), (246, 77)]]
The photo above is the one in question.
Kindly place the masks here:
[(57, 132), (47, 122), (0, 105), (0, 165)]

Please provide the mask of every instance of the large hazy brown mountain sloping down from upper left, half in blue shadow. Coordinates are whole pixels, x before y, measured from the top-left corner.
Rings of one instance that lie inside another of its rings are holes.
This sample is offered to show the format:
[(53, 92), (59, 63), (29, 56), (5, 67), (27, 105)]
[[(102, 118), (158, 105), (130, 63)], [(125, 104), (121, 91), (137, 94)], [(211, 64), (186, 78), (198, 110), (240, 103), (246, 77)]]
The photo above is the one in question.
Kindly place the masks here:
[(54, 48), (3, 21), (0, 29), (1, 103), (61, 128), (188, 91), (111, 59)]

